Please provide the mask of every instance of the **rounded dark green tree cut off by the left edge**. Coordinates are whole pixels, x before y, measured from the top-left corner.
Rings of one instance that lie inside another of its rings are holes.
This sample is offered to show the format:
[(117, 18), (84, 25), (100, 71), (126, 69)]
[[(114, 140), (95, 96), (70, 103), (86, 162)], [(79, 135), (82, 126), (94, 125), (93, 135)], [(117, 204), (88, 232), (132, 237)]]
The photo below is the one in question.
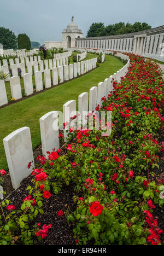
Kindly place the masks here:
[(17, 38), (8, 28), (0, 27), (0, 43), (4, 50), (17, 48)]

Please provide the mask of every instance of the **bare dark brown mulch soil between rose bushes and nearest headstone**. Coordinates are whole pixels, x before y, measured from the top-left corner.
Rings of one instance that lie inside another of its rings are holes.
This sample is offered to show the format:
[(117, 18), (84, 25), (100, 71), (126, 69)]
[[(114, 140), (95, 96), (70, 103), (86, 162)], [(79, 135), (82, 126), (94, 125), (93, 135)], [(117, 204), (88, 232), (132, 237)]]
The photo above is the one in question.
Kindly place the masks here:
[[(31, 184), (32, 176), (24, 179), (21, 186), (15, 190), (8, 199), (14, 202), (15, 208), (20, 208), (22, 200), (28, 196), (28, 190), (26, 188)], [(53, 191), (51, 192), (50, 199), (43, 200), (42, 210), (43, 214), (38, 214), (37, 218), (31, 223), (38, 224), (41, 223), (40, 228), (45, 225), (52, 225), (49, 229), (49, 234), (44, 240), (38, 241), (37, 236), (32, 237), (34, 245), (75, 245), (75, 239), (73, 237), (74, 224), (67, 223), (65, 214), (62, 217), (58, 217), (57, 212), (62, 210), (66, 212), (73, 212), (76, 209), (76, 204), (72, 200), (74, 196), (74, 186), (73, 184), (67, 187), (63, 185), (61, 192), (55, 195)]]

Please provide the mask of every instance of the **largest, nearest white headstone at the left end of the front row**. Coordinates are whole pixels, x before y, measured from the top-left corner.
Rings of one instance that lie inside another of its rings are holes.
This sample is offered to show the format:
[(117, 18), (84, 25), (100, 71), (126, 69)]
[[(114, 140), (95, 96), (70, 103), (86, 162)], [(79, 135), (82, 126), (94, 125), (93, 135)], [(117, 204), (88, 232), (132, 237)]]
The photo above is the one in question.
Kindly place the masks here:
[(10, 133), (3, 139), (3, 144), (11, 182), (16, 189), (32, 173), (32, 166), (27, 167), (29, 162), (34, 162), (30, 128), (23, 127)]

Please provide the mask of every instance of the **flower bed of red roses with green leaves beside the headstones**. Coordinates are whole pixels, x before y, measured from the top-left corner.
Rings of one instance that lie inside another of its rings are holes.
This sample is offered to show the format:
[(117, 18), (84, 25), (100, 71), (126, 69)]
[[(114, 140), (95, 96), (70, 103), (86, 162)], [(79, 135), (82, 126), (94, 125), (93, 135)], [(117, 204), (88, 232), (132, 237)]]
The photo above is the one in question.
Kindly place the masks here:
[(60, 209), (58, 217), (65, 213), (74, 223), (77, 245), (161, 245), (163, 231), (153, 211), (164, 204), (164, 176), (158, 171), (164, 150), (158, 136), (164, 122), (162, 73), (156, 63), (129, 56), (128, 74), (102, 99), (102, 109), (112, 111), (112, 135), (71, 129), (69, 143), (49, 152), (49, 160), (38, 156), (42, 166), (33, 170), (21, 209), (2, 202), (0, 245), (31, 245), (34, 236), (48, 236), (51, 223), (37, 223), (44, 216), (43, 200), (71, 182), (76, 210)]

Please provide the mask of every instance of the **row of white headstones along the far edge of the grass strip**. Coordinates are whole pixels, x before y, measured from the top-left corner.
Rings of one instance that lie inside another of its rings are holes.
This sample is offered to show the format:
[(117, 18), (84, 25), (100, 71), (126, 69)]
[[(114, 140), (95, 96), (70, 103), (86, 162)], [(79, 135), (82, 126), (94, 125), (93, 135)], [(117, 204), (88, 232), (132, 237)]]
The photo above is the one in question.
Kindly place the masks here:
[[(51, 81), (51, 70), (45, 69), (43, 66), (43, 61), (40, 61), (40, 71), (38, 70), (38, 62), (34, 61), (34, 78), (35, 78), (35, 85), (36, 91), (43, 90), (43, 77), (42, 73), (44, 72), (44, 84), (45, 88), (51, 88), (53, 85), (58, 85), (60, 83), (66, 82), (73, 78), (77, 78), (79, 75), (83, 75), (88, 71), (96, 68), (97, 58), (90, 59), (87, 61), (81, 61), (78, 63), (54, 67), (52, 68), (52, 81)], [(21, 63), (22, 68), (22, 77), (24, 78), (24, 89), (26, 96), (33, 94), (33, 82), (32, 82), (32, 67), (28, 69), (28, 73), (26, 73), (25, 64)], [(30, 67), (30, 66), (29, 66)], [(11, 88), (11, 96), (15, 100), (20, 100), (22, 98), (22, 90), (21, 90), (21, 83), (20, 77), (17, 74), (17, 66), (11, 65), (13, 77), (9, 78), (10, 88)], [(28, 68), (28, 67), (27, 67)], [(8, 104), (7, 92), (5, 89), (4, 80), (0, 80), (0, 106)]]

